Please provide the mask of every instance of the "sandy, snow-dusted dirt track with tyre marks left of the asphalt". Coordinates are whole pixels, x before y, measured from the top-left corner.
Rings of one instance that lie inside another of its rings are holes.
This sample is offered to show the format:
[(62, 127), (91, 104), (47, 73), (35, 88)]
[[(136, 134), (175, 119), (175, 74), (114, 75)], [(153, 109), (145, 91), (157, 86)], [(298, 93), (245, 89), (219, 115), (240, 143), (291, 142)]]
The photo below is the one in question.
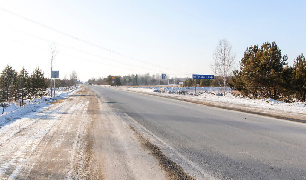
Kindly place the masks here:
[(0, 179), (165, 179), (113, 112), (80, 86), (68, 99), (3, 127)]

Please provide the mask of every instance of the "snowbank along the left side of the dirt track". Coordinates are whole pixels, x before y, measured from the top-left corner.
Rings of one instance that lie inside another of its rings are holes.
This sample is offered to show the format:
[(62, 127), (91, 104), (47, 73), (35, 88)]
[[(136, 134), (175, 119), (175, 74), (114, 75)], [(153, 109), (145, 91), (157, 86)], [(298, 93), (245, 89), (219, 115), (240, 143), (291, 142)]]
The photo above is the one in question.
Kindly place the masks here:
[[(68, 97), (77, 88), (78, 86), (56, 88), (55, 98), (54, 97), (50, 98), (47, 96), (47, 97), (27, 100), (26, 104), (21, 107), (19, 107), (15, 103), (9, 103), (9, 106), (4, 108), (4, 113), (0, 115), (0, 127), (5, 125), (5, 123), (8, 123), (9, 121), (12, 121), (14, 119), (20, 119), (22, 116), (24, 116), (29, 112), (39, 111), (40, 108), (49, 105), (49, 103), (54, 101), (54, 99), (57, 100)], [(0, 111), (2, 112), (2, 108), (0, 108)]]

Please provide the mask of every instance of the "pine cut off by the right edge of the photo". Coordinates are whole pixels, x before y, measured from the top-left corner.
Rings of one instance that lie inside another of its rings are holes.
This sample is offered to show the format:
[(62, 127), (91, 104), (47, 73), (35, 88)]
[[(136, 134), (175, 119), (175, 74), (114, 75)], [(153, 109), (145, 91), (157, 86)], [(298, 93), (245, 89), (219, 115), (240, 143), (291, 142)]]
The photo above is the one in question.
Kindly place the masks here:
[(306, 58), (303, 54), (294, 60), (294, 85), (297, 89), (297, 96), (300, 101), (305, 102), (306, 93)]

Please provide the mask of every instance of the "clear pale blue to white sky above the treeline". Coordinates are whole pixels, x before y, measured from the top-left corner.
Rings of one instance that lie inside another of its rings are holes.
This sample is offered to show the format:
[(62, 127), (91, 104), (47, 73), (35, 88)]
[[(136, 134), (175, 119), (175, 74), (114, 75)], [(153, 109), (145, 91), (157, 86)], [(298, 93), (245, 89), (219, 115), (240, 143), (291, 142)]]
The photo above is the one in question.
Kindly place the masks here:
[(306, 54), (305, 9), (306, 1), (289, 0), (1, 0), (0, 70), (11, 64), (32, 73), (39, 66), (50, 76), (53, 41), (60, 78), (73, 69), (81, 81), (109, 74), (212, 74), (213, 52), (222, 38), (232, 44), (237, 68), (247, 46), (266, 41), (275, 41), (293, 66), (297, 55)]

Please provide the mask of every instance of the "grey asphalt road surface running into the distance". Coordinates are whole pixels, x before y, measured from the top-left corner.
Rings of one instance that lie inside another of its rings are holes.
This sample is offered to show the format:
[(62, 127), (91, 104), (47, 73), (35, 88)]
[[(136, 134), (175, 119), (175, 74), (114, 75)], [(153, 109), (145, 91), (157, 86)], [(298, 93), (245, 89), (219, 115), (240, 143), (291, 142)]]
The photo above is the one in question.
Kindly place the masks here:
[(218, 179), (306, 177), (304, 123), (103, 86), (88, 88), (194, 163), (203, 178), (205, 173)]

